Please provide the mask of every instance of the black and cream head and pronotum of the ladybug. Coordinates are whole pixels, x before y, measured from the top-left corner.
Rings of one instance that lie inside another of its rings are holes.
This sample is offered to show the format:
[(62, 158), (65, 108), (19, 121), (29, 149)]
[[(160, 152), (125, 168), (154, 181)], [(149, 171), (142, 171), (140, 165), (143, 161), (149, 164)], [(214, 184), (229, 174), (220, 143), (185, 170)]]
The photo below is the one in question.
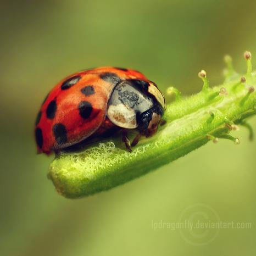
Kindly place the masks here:
[(125, 80), (116, 85), (108, 102), (107, 116), (119, 127), (154, 133), (164, 114), (165, 99), (151, 81)]

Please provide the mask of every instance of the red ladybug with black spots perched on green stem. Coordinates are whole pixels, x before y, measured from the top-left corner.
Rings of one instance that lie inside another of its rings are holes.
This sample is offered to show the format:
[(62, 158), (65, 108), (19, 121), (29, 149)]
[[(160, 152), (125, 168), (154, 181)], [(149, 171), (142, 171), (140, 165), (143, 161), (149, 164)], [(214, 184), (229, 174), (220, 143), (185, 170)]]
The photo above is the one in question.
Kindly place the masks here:
[[(141, 136), (157, 131), (164, 110), (165, 98), (157, 85), (136, 70), (80, 71), (60, 81), (44, 99), (36, 118), (37, 151), (59, 152), (116, 128), (123, 130), (131, 152)], [(132, 143), (127, 129), (138, 131)]]

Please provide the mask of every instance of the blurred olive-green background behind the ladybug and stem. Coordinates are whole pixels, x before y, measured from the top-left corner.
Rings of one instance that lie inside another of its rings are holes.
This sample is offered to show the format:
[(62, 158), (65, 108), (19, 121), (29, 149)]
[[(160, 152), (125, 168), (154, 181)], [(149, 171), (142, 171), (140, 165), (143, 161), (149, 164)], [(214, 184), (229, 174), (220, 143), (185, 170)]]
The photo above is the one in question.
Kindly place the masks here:
[[(226, 53), (244, 72), (243, 52), (256, 55), (255, 1), (25, 0), (0, 1), (0, 10), (1, 255), (255, 255), (256, 143), (247, 130), (236, 133), (239, 146), (208, 143), (76, 200), (54, 191), (46, 177), (53, 156), (37, 155), (33, 138), (47, 92), (78, 70), (134, 68), (183, 94), (202, 87), (201, 69), (221, 82)], [(182, 218), (251, 227), (154, 229)]]

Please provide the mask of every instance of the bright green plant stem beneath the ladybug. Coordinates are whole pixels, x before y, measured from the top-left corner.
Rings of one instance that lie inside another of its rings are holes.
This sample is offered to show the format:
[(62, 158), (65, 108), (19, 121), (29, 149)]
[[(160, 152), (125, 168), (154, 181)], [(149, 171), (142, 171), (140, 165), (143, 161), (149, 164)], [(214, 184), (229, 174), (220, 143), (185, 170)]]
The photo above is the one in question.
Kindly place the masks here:
[[(226, 124), (239, 125), (255, 114), (256, 106), (256, 93), (250, 93), (248, 86), (239, 81), (237, 76), (167, 105), (166, 124), (156, 135), (143, 138), (132, 153), (126, 151), (120, 136), (110, 137), (82, 152), (58, 155), (49, 167), (48, 177), (60, 194), (78, 198), (146, 174), (203, 146), (210, 136), (232, 139), (226, 136), (230, 132)], [(255, 75), (252, 85), (256, 85)], [(222, 87), (227, 95), (219, 95)]]

